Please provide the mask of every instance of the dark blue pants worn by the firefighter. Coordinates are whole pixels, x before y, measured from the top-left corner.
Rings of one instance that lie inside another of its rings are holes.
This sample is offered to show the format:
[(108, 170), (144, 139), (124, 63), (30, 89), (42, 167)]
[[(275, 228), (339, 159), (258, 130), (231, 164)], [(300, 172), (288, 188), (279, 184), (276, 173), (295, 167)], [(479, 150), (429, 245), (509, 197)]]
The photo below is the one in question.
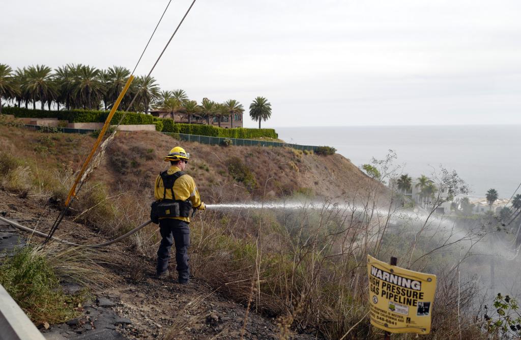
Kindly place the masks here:
[(190, 275), (190, 267), (188, 265), (190, 227), (188, 223), (178, 219), (164, 218), (159, 220), (159, 231), (162, 240), (157, 250), (157, 273), (163, 273), (168, 268), (170, 248), (172, 247), (172, 243), (175, 243), (179, 282), (187, 282), (188, 276)]

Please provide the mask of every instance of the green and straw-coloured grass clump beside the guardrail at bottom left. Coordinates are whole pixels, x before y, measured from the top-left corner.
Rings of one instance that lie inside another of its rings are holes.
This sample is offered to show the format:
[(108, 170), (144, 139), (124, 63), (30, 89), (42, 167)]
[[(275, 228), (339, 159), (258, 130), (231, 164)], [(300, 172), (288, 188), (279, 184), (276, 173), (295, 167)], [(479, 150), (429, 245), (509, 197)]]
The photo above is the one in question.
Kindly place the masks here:
[(108, 256), (86, 248), (57, 242), (28, 245), (0, 262), (0, 283), (36, 324), (60, 323), (79, 315), (78, 303), (85, 290), (67, 295), (61, 280), (88, 287), (109, 283), (111, 276), (101, 263)]

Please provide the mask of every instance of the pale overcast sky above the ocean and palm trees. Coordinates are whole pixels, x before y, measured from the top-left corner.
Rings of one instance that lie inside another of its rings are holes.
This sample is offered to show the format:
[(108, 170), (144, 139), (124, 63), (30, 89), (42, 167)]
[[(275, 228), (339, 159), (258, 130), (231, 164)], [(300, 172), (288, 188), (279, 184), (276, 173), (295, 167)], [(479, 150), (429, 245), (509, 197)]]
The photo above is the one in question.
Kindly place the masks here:
[[(0, 63), (132, 69), (167, 3), (4, 1)], [(172, 0), (138, 75), (190, 3)], [(520, 17), (518, 0), (197, 0), (152, 75), (246, 111), (267, 97), (267, 127), (520, 124)]]

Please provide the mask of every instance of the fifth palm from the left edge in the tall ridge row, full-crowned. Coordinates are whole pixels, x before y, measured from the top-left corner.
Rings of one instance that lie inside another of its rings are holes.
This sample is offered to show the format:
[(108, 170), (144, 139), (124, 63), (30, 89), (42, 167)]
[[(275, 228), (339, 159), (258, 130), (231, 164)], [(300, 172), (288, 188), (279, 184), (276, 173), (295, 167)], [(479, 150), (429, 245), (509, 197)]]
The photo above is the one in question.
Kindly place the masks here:
[(92, 109), (93, 104), (98, 107), (105, 89), (100, 79), (100, 70), (89, 65), (83, 65), (78, 71), (75, 81), (77, 98), (83, 103), (84, 108)]

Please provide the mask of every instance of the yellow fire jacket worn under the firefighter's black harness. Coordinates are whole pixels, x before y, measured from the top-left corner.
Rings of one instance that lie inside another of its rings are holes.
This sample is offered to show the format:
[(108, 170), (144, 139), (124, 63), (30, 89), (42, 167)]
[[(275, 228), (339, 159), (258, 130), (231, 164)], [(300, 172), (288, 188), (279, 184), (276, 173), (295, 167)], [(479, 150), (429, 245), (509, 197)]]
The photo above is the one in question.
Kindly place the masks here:
[[(171, 166), (167, 173), (172, 174), (177, 171), (181, 171), (176, 166)], [(201, 196), (199, 196), (199, 191), (197, 191), (197, 187), (195, 186), (194, 179), (188, 175), (184, 174), (181, 177), (179, 177), (176, 182), (173, 183), (173, 194), (175, 197), (172, 197), (172, 192), (167, 188), (166, 190), (166, 197), (163, 197), (165, 194), (165, 187), (163, 185), (163, 179), (161, 176), (157, 176), (156, 178), (156, 184), (154, 187), (154, 197), (157, 201), (162, 201), (164, 198), (168, 200), (181, 200), (185, 201), (190, 199), (192, 202), (192, 206), (195, 208), (201, 207)], [(162, 217), (163, 218), (163, 217)], [(182, 221), (186, 221), (190, 223), (190, 217), (165, 217), (165, 218), (175, 218), (180, 219)]]

